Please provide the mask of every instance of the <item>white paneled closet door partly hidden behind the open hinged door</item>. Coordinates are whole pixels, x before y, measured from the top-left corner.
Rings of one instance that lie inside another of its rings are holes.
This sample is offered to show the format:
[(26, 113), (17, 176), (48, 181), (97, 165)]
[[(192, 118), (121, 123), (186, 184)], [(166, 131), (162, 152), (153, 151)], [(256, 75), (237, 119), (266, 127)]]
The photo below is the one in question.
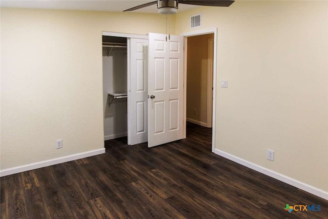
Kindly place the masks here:
[(148, 39), (130, 38), (129, 62), (128, 144), (136, 145), (148, 140)]

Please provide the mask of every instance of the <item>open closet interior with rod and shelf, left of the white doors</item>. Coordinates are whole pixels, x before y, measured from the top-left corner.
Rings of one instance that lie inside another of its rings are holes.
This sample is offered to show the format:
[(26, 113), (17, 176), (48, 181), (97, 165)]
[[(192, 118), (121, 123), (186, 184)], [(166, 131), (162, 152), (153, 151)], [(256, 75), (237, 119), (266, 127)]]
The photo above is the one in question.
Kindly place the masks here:
[(105, 141), (128, 135), (127, 38), (103, 35)]

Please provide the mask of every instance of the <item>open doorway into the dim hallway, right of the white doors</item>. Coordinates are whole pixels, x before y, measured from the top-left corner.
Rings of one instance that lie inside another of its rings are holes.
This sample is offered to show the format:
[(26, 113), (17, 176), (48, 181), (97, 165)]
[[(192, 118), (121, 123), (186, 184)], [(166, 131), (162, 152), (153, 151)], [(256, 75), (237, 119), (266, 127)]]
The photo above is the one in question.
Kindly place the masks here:
[(214, 34), (187, 39), (187, 122), (212, 128)]

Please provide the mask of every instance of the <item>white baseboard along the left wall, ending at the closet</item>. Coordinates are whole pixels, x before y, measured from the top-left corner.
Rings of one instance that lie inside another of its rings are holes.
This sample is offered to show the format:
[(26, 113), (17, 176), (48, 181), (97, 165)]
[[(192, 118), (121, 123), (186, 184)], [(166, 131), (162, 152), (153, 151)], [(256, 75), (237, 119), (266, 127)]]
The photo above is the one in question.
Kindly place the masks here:
[(75, 161), (75, 160), (78, 160), (81, 158), (94, 156), (94, 155), (98, 155), (98, 154), (103, 154), (105, 152), (106, 152), (105, 148), (101, 148), (101, 149), (96, 149), (96, 150), (87, 151), (87, 152), (83, 152), (83, 153), (62, 156), (62, 157), (54, 158), (54, 159), (47, 160), (47, 161), (41, 161), (41, 162), (36, 162), (36, 163), (27, 164), (27, 165), (23, 165), (23, 166), (8, 168), (8, 169), (0, 170), (0, 176), (11, 175), (11, 174), (20, 173), (20, 172), (24, 172), (24, 171), (28, 171), (28, 170), (34, 170), (34, 169), (38, 169), (38, 168), (42, 168), (42, 167), (48, 167), (51, 165), (65, 163), (65, 162), (69, 162), (69, 161)]

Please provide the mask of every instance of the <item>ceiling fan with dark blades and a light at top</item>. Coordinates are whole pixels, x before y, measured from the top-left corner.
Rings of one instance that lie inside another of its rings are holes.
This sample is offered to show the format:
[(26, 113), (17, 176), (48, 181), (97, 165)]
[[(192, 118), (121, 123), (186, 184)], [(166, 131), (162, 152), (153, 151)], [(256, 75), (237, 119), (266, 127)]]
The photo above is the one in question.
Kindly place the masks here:
[(158, 13), (175, 14), (178, 9), (178, 4), (229, 7), (234, 2), (235, 1), (229, 1), (229, 0), (158, 0), (143, 5), (139, 5), (133, 8), (129, 8), (124, 11), (134, 11), (140, 8), (145, 8), (157, 4)]

